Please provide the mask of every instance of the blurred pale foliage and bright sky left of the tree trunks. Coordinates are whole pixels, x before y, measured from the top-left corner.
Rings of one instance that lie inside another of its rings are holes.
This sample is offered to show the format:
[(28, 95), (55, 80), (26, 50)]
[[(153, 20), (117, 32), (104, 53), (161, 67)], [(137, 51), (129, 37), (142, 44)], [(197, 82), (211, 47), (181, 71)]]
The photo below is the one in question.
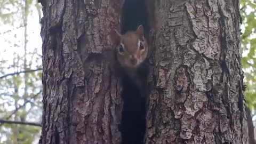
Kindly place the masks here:
[[(35, 38), (42, 41), (41, 9), (36, 0), (0, 1), (0, 77), (39, 69), (0, 78), (0, 119), (41, 123), (42, 45), (30, 39), (38, 33)], [(0, 123), (0, 143), (38, 143), (40, 132), (37, 126)]]

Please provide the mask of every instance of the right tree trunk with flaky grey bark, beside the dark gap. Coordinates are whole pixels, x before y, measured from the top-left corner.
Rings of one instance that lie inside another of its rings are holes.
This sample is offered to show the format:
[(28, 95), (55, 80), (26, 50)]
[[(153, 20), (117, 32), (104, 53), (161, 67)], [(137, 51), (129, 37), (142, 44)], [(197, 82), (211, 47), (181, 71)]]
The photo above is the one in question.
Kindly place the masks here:
[(238, 0), (154, 5), (146, 143), (248, 143)]

